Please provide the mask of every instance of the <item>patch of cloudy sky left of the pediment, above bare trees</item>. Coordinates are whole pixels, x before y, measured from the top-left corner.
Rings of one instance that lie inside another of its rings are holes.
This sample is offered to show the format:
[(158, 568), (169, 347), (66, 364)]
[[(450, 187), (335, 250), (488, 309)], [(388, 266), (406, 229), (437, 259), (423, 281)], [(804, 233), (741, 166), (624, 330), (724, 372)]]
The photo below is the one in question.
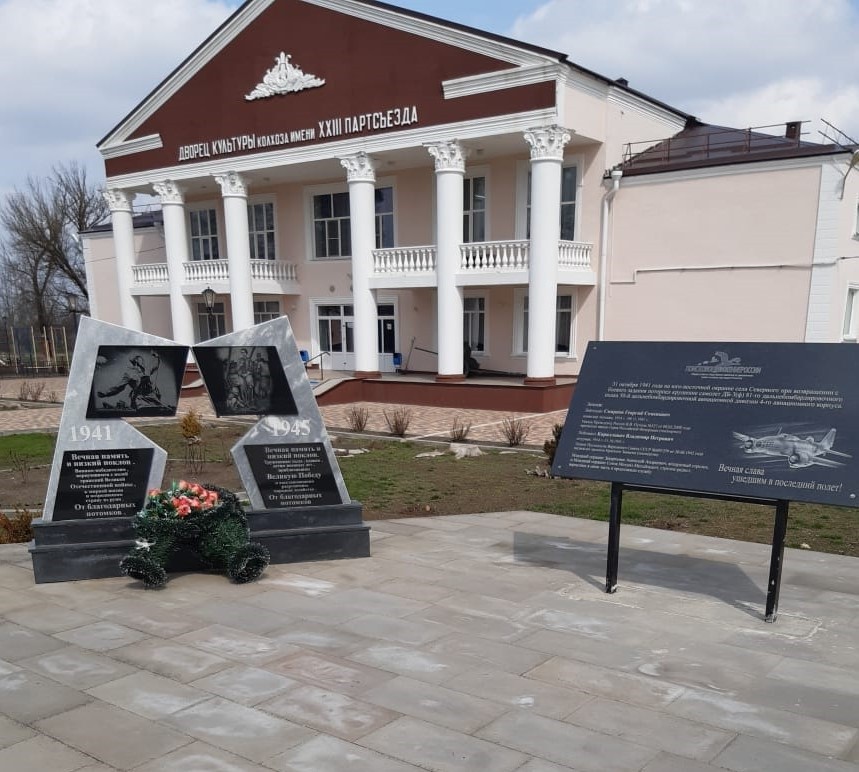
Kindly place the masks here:
[(0, 194), (58, 162), (104, 170), (95, 143), (238, 0), (0, 0)]

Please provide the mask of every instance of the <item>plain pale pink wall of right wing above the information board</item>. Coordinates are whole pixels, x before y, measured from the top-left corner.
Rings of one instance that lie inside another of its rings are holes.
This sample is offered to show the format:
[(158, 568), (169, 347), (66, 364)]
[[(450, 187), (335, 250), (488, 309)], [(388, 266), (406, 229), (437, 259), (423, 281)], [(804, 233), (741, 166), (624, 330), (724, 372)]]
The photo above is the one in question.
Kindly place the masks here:
[(624, 180), (606, 335), (802, 341), (820, 168)]

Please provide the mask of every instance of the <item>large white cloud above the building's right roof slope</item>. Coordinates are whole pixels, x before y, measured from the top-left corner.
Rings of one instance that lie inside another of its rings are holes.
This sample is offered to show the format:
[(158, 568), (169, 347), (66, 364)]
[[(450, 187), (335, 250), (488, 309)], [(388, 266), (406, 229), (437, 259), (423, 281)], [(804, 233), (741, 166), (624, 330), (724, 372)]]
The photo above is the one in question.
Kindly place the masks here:
[(859, 135), (859, 10), (849, 0), (550, 0), (512, 35), (706, 122), (822, 117)]

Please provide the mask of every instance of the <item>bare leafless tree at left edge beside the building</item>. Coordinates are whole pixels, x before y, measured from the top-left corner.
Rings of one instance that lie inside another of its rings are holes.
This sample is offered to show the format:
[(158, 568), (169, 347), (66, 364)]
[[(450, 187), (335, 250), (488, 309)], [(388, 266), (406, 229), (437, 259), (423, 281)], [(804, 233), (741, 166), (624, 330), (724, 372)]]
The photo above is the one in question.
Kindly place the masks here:
[[(88, 298), (83, 251), (78, 233), (103, 222), (108, 215), (101, 191), (87, 181), (77, 163), (58, 165), (49, 177), (29, 177), (0, 203), (2, 257), (16, 274), (21, 291), (35, 303), (40, 324), (50, 321), (52, 305), (62, 298), (68, 312), (71, 298)], [(53, 293), (36, 299), (35, 293)], [(46, 315), (46, 316), (45, 316)]]

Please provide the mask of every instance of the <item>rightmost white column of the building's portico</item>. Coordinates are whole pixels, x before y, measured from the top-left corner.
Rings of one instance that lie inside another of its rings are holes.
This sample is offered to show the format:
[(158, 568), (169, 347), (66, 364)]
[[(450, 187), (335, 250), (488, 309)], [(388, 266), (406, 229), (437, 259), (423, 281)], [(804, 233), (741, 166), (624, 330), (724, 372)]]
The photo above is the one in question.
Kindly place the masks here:
[(525, 132), (531, 146), (531, 249), (528, 263), (528, 364), (525, 381), (555, 380), (561, 171), (570, 132), (547, 126)]

